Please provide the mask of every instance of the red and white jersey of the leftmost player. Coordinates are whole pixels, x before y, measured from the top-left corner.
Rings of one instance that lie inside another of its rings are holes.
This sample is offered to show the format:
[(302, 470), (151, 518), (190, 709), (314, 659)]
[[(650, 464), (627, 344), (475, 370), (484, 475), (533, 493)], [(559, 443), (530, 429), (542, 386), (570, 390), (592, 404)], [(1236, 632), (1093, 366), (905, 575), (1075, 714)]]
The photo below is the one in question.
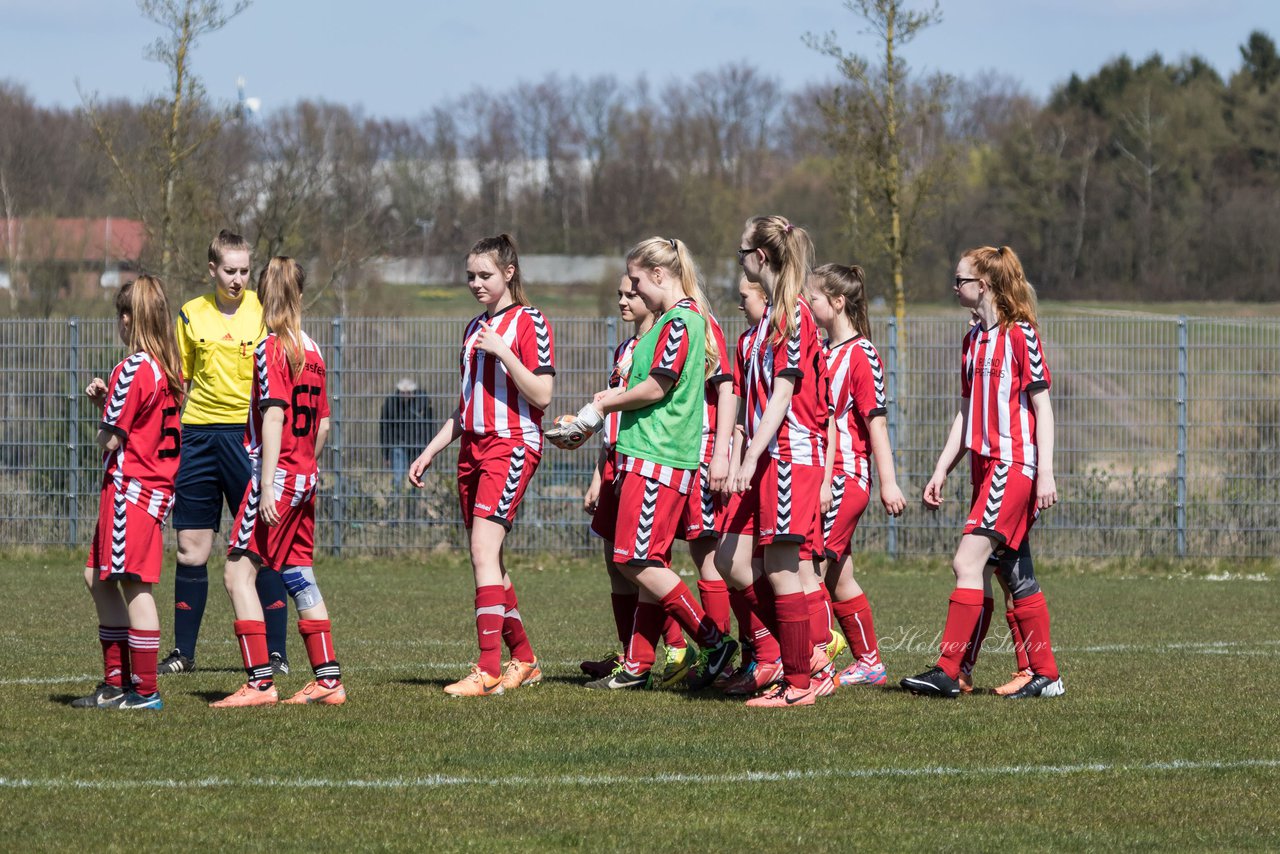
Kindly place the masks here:
[(102, 455), (102, 485), (164, 521), (173, 507), (173, 481), (182, 452), (182, 407), (160, 364), (138, 351), (111, 369), (102, 430), (120, 447)]

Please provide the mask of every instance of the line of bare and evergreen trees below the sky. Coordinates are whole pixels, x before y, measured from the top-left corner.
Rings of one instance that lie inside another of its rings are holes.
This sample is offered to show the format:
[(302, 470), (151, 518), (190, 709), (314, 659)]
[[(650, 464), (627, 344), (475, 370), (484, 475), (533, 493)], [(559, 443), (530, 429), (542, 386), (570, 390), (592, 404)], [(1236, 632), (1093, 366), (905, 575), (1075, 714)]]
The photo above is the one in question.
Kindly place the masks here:
[(312, 300), (358, 314), (376, 256), (461, 255), (507, 230), (525, 252), (570, 255), (678, 236), (709, 264), (732, 257), (749, 215), (783, 213), (888, 297), (868, 168), (891, 155), (908, 300), (947, 298), (955, 257), (982, 243), (1014, 246), (1046, 298), (1266, 300), (1280, 277), (1280, 59), (1263, 32), (1226, 78), (1198, 56), (1120, 56), (1043, 100), (1000, 74), (901, 67), (886, 151), (856, 138), (874, 86), (850, 69), (882, 81), (892, 51), (850, 67), (812, 37), (841, 61), (800, 90), (731, 64), (662, 86), (549, 76), (416, 119), (319, 101), (255, 115), (175, 74), (174, 45), (201, 32), (174, 20), (152, 46), (169, 74), (154, 99), (52, 109), (0, 82), (0, 216), (142, 219), (143, 265), (184, 294), (205, 288), (223, 225), (260, 256), (307, 259)]

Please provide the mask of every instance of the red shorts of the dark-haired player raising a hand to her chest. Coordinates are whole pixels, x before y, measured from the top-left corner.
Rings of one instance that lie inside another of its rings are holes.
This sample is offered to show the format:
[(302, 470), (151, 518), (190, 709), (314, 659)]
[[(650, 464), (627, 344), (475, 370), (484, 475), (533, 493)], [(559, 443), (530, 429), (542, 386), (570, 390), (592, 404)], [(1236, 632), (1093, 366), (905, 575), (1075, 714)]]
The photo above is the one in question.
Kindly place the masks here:
[(509, 531), (541, 458), (521, 439), (463, 433), (458, 449), (458, 503), (467, 530), (475, 520), (488, 519)]

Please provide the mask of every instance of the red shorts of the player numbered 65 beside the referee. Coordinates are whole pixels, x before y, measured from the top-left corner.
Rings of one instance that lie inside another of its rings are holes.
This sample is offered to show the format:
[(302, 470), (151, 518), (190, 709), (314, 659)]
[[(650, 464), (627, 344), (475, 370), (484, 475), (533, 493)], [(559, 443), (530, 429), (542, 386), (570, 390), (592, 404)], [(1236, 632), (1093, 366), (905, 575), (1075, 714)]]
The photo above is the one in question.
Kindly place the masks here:
[(276, 469), (275, 483), (269, 494), (275, 497), (275, 510), (280, 521), (268, 525), (262, 521), (259, 504), (262, 494), (259, 474), (244, 490), (227, 557), (247, 554), (260, 565), (276, 572), (289, 566), (312, 566), (316, 536), (316, 476), (293, 475)]

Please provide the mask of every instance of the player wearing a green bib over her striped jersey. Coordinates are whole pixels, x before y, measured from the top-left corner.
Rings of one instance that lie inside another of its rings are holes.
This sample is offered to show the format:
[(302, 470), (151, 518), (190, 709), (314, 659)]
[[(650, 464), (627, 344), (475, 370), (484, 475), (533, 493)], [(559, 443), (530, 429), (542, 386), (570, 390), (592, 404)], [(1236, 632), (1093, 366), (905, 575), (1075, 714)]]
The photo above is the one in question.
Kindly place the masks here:
[(626, 391), (600, 392), (584, 412), (622, 414), (613, 560), (640, 588), (640, 597), (625, 659), (588, 688), (648, 682), (666, 612), (701, 647), (699, 668), (689, 681), (698, 689), (709, 685), (737, 649), (671, 571), (671, 544), (701, 465), (707, 366), (716, 351), (705, 316), (686, 296), (698, 292), (698, 268), (684, 243), (662, 237), (643, 241), (627, 255), (627, 277), (657, 320), (631, 353)]

